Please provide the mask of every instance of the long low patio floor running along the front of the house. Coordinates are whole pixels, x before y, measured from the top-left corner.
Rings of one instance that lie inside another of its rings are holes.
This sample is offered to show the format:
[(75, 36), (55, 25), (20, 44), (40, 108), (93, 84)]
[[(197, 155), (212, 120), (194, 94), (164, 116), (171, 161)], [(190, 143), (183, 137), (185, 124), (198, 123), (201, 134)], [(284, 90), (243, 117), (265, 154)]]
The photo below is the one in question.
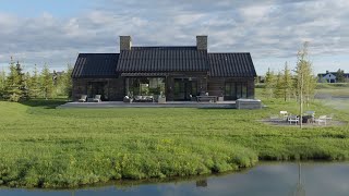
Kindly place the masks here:
[(221, 108), (236, 109), (236, 101), (196, 102), (196, 101), (167, 101), (157, 102), (123, 102), (123, 101), (101, 101), (101, 102), (67, 102), (57, 108)]

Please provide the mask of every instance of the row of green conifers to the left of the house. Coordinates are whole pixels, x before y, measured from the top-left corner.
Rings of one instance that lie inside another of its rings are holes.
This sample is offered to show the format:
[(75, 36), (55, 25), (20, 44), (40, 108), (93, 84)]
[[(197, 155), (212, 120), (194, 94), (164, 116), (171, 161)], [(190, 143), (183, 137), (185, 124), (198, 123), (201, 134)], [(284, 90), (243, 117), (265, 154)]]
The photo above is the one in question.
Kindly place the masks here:
[(0, 71), (0, 99), (17, 102), (35, 98), (70, 98), (72, 70), (68, 65), (63, 72), (51, 72), (45, 64), (40, 71), (35, 65), (32, 72), (24, 72), (22, 64), (11, 58), (8, 72)]

